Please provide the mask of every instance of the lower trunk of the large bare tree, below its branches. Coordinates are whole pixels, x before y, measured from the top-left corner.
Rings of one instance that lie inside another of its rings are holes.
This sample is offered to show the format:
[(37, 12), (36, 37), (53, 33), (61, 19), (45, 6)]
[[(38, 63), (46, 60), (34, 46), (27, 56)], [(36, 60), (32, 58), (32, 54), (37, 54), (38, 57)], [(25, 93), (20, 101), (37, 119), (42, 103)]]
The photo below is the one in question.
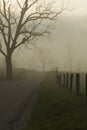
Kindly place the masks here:
[(8, 80), (12, 79), (12, 55), (9, 54), (6, 57), (6, 76)]

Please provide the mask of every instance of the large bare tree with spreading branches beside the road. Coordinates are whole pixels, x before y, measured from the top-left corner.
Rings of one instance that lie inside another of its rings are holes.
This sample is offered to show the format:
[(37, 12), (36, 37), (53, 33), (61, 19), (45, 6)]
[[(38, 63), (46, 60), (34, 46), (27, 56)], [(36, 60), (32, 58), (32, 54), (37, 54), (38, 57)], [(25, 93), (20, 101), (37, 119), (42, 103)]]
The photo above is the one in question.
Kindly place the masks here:
[(55, 20), (63, 10), (62, 7), (55, 11), (53, 4), (44, 0), (16, 0), (16, 5), (12, 5), (10, 0), (1, 0), (0, 52), (6, 59), (8, 79), (12, 78), (13, 52), (22, 45), (30, 44), (35, 37), (49, 34), (48, 21)]

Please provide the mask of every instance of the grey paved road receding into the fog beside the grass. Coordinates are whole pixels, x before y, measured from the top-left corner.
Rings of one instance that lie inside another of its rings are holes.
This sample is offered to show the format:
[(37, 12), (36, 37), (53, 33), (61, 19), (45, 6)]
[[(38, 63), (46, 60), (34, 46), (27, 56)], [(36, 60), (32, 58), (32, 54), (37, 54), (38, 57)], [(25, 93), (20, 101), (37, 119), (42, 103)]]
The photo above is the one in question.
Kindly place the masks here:
[(8, 121), (18, 118), (29, 95), (42, 79), (43, 74), (33, 73), (26, 80), (0, 82), (0, 130), (10, 130)]

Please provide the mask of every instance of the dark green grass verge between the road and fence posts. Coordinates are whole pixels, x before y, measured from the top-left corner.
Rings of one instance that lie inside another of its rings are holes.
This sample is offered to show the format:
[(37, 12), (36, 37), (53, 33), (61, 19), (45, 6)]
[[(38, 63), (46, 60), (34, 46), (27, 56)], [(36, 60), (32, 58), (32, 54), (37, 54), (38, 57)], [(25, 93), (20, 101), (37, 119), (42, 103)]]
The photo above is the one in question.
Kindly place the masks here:
[(84, 97), (77, 97), (56, 85), (54, 72), (41, 83), (40, 94), (26, 130), (86, 130), (87, 105)]

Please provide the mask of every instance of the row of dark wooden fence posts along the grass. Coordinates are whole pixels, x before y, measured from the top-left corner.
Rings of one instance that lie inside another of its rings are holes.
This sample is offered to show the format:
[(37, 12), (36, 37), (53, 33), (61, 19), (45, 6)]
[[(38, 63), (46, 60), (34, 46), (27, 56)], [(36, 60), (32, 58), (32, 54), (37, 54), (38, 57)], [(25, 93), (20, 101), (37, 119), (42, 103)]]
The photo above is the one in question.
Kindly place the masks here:
[[(82, 91), (84, 91), (85, 102), (87, 103), (87, 74), (64, 73), (64, 72), (58, 72), (56, 74), (57, 74), (56, 80), (57, 80), (58, 86), (63, 87), (69, 90), (70, 92), (73, 92), (74, 90), (77, 96), (80, 96), (82, 94)], [(82, 75), (83, 75), (83, 78), (82, 78)], [(84, 81), (84, 84), (83, 84), (83, 81)], [(83, 86), (84, 86), (84, 89), (83, 89)]]

